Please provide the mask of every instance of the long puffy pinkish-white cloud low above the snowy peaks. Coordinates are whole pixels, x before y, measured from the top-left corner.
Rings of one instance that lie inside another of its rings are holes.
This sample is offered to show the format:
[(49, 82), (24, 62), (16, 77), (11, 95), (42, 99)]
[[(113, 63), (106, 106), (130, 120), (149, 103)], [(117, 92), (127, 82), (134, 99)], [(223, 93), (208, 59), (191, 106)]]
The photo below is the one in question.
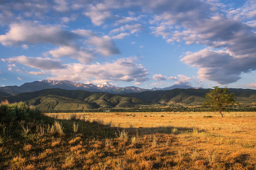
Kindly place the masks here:
[(70, 80), (84, 82), (145, 82), (148, 80), (148, 70), (135, 63), (137, 58), (120, 58), (113, 63), (95, 63), (84, 65), (80, 63), (66, 64), (66, 69), (52, 70), (54, 77), (50, 80)]

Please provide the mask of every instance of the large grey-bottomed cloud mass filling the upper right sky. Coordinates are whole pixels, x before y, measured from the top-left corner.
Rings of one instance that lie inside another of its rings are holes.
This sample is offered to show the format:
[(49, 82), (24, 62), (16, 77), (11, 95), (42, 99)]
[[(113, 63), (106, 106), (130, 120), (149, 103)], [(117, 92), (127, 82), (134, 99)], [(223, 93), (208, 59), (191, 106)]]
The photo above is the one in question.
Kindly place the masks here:
[[(152, 33), (162, 36), (167, 42), (183, 40), (187, 45), (197, 43), (215, 48), (200, 50), (181, 59), (199, 69), (197, 74), (201, 80), (228, 84), (239, 80), (241, 74), (255, 70), (256, 35), (252, 27), (240, 20), (227, 18), (211, 8), (211, 4), (196, 0), (190, 2), (198, 6), (192, 4), (187, 7), (184, 4), (178, 8), (183, 2), (171, 1), (170, 5), (176, 9), (166, 6), (169, 10), (163, 8), (162, 12), (156, 11), (159, 15), (155, 15), (151, 23), (158, 26), (151, 27)], [(165, 1), (162, 3), (165, 4)], [(156, 7), (147, 8), (157, 10), (158, 5), (162, 7), (159, 2)]]

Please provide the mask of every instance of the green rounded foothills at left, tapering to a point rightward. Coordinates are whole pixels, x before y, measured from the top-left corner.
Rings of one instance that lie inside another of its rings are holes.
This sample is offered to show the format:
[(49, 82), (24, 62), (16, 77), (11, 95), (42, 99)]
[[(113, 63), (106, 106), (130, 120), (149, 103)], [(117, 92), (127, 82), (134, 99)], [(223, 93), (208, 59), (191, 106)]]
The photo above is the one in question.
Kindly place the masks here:
[(18, 93), (0, 97), (0, 101), (26, 102), (40, 110), (85, 110), (99, 108), (125, 108), (151, 105), (150, 101), (119, 94), (89, 92), (86, 90), (63, 90), (51, 88), (34, 92)]

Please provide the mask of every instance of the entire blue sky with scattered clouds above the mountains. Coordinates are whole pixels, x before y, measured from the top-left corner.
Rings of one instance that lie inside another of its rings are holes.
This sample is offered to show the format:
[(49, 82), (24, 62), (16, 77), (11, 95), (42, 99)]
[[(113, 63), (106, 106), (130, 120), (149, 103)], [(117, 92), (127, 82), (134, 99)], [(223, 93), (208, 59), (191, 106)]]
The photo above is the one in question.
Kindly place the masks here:
[(256, 89), (255, 0), (1, 0), (0, 86)]

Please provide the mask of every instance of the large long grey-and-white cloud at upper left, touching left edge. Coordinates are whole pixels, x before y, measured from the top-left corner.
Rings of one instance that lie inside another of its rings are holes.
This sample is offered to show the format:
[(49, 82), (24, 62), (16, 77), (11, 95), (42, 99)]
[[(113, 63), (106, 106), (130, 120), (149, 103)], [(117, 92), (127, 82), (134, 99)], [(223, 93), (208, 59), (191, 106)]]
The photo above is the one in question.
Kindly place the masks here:
[[(126, 36), (120, 34), (116, 38)], [(88, 38), (86, 43), (93, 45), (91, 47), (80, 47), (75, 45), (76, 39)], [(91, 63), (97, 53), (105, 56), (115, 55), (120, 53), (115, 42), (108, 36), (96, 36), (91, 30), (77, 29), (66, 31), (56, 26), (43, 26), (36, 23), (14, 23), (10, 25), (10, 31), (5, 35), (0, 35), (0, 42), (5, 46), (21, 45), (24, 49), (28, 48), (26, 44), (47, 44), (60, 45), (55, 50), (50, 50), (48, 54), (54, 58), (68, 56), (76, 58), (81, 63)], [(47, 53), (45, 53), (47, 54)]]

